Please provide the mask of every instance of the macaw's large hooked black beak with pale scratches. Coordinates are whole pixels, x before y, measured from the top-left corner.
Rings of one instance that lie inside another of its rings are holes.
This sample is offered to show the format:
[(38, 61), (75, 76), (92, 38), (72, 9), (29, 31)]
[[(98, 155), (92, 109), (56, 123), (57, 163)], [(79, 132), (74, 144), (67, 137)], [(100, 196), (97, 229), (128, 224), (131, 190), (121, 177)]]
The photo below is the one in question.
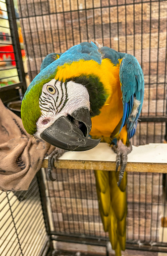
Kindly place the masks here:
[(41, 138), (50, 144), (68, 151), (85, 151), (97, 146), (100, 139), (87, 136), (92, 122), (89, 110), (79, 108), (70, 116), (62, 116), (41, 133)]

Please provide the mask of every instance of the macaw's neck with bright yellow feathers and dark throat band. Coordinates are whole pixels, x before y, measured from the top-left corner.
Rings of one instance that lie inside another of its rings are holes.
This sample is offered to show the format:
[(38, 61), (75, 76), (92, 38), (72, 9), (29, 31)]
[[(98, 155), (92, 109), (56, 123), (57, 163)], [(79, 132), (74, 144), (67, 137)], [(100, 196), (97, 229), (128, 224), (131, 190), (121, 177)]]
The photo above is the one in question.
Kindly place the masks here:
[(119, 80), (119, 64), (114, 65), (109, 59), (103, 59), (101, 64), (94, 60), (74, 61), (59, 66), (55, 79), (85, 86), (90, 96), (90, 114), (97, 116), (103, 106), (110, 104)]

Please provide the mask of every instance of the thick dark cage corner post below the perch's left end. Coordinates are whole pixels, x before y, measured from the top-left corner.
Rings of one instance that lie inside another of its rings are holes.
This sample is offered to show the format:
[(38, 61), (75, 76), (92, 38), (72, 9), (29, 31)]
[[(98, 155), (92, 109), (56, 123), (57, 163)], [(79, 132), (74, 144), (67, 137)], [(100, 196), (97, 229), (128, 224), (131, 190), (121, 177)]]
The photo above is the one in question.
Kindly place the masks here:
[(43, 211), (43, 216), (44, 216), (44, 223), (45, 223), (45, 228), (47, 235), (50, 239), (50, 248), (54, 250), (54, 245), (52, 241), (52, 236), (51, 234), (51, 227), (50, 227), (50, 222), (49, 222), (49, 215), (48, 215), (48, 210), (47, 210), (47, 197), (46, 197), (46, 189), (45, 189), (45, 184), (43, 180), (43, 175), (42, 175), (42, 170), (40, 169), (37, 174), (37, 182), (39, 186), (39, 193), (40, 193), (40, 198), (41, 198), (41, 206), (42, 206), (42, 211)]

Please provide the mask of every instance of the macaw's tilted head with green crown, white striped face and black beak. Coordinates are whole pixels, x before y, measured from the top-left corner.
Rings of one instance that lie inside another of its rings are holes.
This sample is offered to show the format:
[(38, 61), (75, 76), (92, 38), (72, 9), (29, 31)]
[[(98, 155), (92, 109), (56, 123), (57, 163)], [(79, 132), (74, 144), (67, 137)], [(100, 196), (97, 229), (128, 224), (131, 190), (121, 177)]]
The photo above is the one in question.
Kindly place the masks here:
[(70, 151), (91, 149), (100, 142), (88, 135), (91, 116), (98, 115), (106, 101), (104, 89), (92, 76), (57, 79), (54, 65), (43, 69), (28, 87), (21, 107), (23, 126), (29, 134), (56, 147)]

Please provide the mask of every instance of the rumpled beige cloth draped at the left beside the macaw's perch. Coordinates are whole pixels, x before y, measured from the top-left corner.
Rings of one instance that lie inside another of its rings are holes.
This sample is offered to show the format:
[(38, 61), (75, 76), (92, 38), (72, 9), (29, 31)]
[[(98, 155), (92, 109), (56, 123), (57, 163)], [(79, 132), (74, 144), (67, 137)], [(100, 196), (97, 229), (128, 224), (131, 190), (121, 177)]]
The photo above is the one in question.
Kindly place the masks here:
[(36, 140), (0, 100), (0, 190), (27, 190), (43, 159), (55, 149)]

